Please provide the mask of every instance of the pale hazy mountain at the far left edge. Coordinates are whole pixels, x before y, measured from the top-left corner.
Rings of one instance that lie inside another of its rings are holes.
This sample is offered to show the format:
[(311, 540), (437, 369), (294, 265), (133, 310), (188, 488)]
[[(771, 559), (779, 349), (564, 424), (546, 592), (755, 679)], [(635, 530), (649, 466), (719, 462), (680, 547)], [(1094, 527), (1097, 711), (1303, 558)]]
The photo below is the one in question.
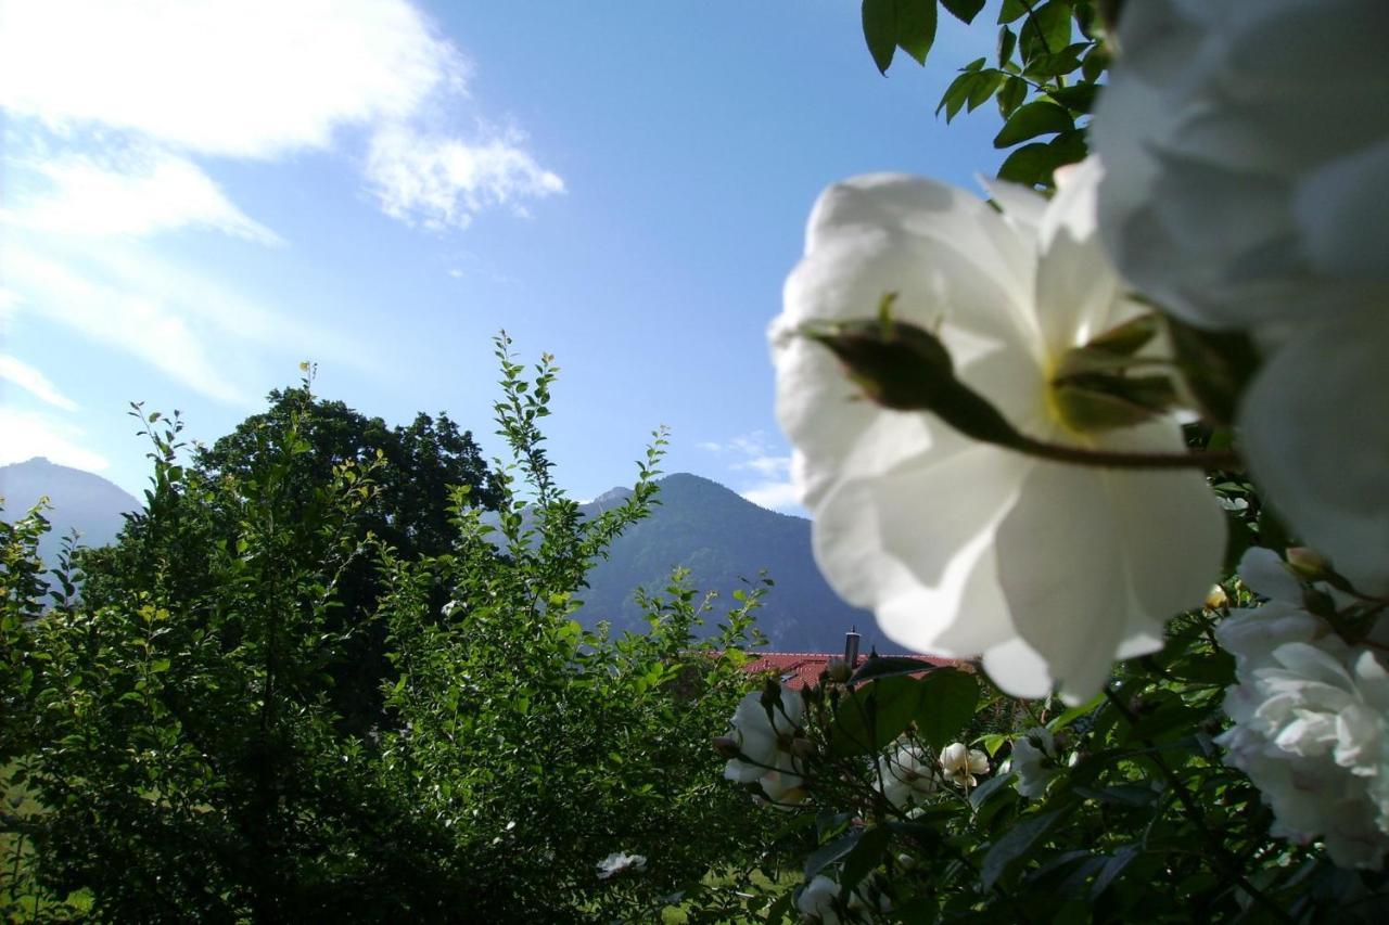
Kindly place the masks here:
[(125, 525), (121, 515), (142, 507), (100, 475), (57, 465), (42, 456), (26, 462), (0, 465), (0, 497), (4, 497), (6, 519), (24, 517), (44, 494), (51, 507), (44, 517), (53, 529), (43, 538), (39, 551), (50, 567), (57, 564), (63, 538), (68, 532), (78, 531), (78, 543), (82, 546), (106, 546), (115, 540)]

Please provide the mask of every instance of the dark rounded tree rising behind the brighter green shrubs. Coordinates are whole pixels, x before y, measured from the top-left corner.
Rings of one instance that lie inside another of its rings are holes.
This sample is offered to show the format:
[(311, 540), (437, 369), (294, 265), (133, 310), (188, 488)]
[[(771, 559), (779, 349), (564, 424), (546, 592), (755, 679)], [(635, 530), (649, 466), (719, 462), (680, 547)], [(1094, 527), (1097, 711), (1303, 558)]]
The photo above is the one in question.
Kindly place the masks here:
[[(268, 500), (254, 492), (268, 490), (257, 479), (272, 460), (285, 462), (272, 489), (283, 528), (329, 517), (333, 500), (322, 489), (335, 479), (353, 496), (350, 512), (333, 529), (293, 532), (282, 549), (293, 557), (292, 568), (313, 569), (338, 556), (344, 543), (363, 543), (367, 536), (389, 543), (404, 560), (447, 551), (451, 486), (467, 486), (472, 504), (496, 507), (500, 492), (472, 435), (460, 432), (446, 414), (421, 412), (408, 426), (388, 428), (342, 401), (315, 397), (311, 375), (306, 367), (299, 388), (271, 392), (267, 411), (211, 447), (194, 447), (186, 465), (178, 461), (183, 449), (178, 414), (149, 415), (146, 431), (160, 429), (154, 485), (144, 493), (146, 510), (126, 517), (114, 546), (83, 550), (79, 557), (90, 606), (153, 594), (158, 588), (169, 601), (215, 607), (222, 578), (208, 556), (244, 540), (246, 501)], [(142, 414), (136, 406), (135, 415)], [(324, 629), (340, 639), (326, 667), (335, 682), (331, 696), (344, 722), (361, 733), (382, 719), (379, 686), (390, 672), (385, 632), (372, 621), (382, 581), (369, 556), (344, 558), (332, 581)], [(432, 590), (436, 606), (443, 594), (442, 588)]]

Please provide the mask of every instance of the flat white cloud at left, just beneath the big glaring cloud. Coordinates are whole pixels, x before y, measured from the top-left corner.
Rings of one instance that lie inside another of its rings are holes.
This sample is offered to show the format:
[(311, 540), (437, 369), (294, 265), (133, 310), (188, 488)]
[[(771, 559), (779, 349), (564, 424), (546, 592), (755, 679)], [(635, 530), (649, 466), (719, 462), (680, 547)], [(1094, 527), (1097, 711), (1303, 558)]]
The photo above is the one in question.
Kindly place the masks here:
[(14, 224), (86, 236), (147, 236), (203, 226), (263, 244), (283, 240), (232, 204), (200, 167), (150, 146), (67, 154), (35, 167), (53, 192), (7, 214)]

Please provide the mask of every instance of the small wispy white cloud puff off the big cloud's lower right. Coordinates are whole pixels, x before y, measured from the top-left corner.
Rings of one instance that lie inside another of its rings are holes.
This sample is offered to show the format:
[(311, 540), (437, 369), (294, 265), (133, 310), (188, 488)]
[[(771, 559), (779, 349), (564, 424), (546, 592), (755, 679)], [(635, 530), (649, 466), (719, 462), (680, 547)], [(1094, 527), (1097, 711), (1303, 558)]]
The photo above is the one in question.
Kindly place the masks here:
[(564, 192), (564, 181), (542, 168), (508, 132), (481, 143), (419, 133), (406, 126), (378, 132), (367, 157), (367, 181), (381, 210), (425, 228), (467, 228), (475, 212)]

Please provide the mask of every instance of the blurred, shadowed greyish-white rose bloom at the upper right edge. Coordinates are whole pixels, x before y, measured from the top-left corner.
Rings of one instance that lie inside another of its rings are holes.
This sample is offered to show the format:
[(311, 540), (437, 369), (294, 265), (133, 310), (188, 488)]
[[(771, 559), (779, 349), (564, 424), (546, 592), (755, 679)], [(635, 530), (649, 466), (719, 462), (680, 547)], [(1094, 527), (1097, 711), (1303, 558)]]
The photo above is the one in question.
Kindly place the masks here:
[(1256, 481), (1363, 590), (1389, 593), (1389, 4), (1146, 0), (1093, 143), (1100, 226), (1174, 314), (1250, 331)]

